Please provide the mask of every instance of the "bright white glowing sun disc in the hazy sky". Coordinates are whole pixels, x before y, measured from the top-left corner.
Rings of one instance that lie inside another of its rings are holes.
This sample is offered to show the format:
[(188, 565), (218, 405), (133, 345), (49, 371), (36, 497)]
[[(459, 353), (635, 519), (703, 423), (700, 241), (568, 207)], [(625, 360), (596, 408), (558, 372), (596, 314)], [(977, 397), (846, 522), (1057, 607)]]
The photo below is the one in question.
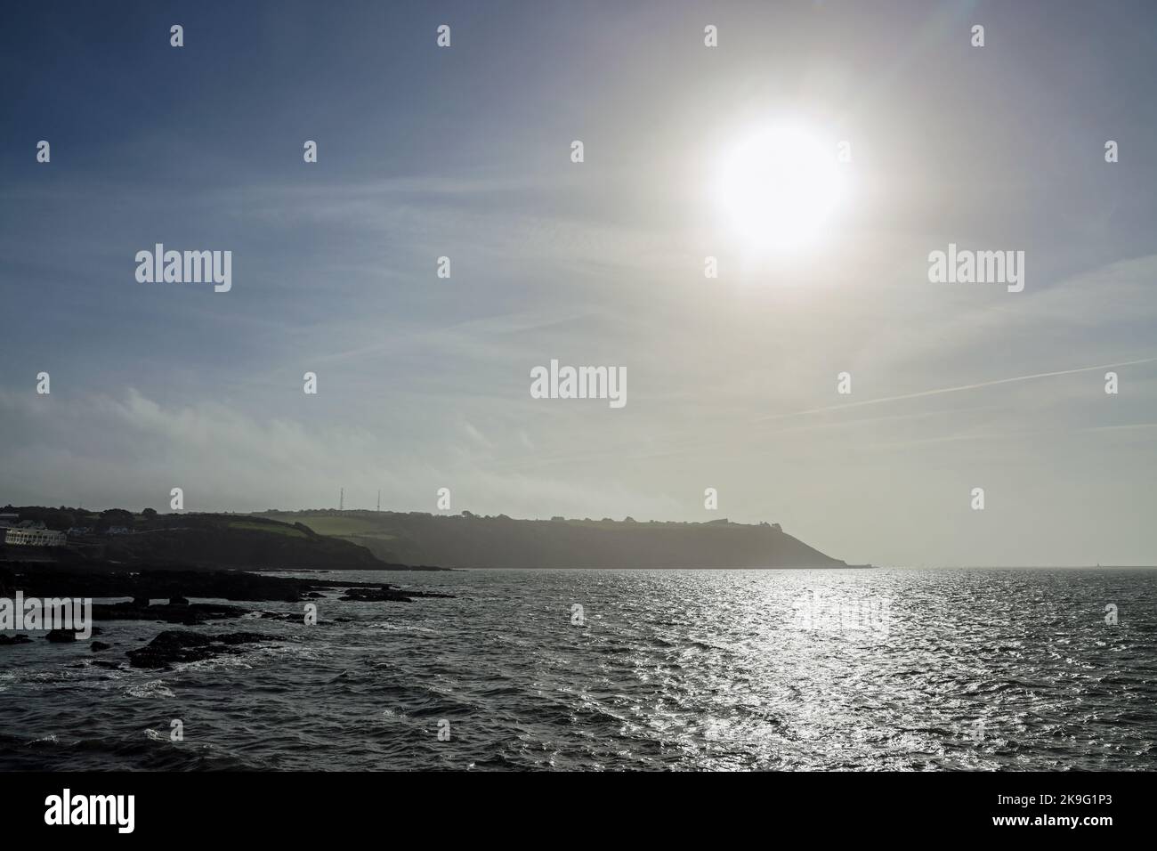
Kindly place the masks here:
[(843, 195), (834, 142), (774, 126), (723, 153), (715, 190), (730, 230), (754, 251), (793, 251), (825, 235)]

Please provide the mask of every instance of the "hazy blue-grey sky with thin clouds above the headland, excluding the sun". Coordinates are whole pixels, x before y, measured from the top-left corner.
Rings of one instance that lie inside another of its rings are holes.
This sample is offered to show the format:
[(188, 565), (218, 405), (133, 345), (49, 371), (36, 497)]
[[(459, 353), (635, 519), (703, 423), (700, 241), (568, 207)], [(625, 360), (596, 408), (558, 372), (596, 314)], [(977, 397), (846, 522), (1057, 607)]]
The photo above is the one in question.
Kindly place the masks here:
[[(1157, 563), (1151, 3), (6, 19), (0, 504), (448, 487), (452, 512), (779, 522), (856, 563)], [(767, 251), (717, 176), (779, 125), (850, 157), (816, 240)], [(231, 251), (231, 289), (139, 283), (155, 243)], [(950, 243), (1024, 251), (1023, 292), (930, 281)], [(552, 359), (624, 368), (627, 403), (532, 398)]]

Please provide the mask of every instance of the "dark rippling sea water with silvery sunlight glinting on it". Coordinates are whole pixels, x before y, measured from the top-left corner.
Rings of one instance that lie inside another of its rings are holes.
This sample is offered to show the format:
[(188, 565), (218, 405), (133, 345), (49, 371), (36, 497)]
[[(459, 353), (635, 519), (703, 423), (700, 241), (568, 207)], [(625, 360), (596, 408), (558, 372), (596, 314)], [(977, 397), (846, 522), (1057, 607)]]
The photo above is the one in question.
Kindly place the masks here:
[(91, 663), (155, 623), (2, 647), (0, 769), (1157, 768), (1157, 571), (312, 575), (457, 596), (171, 672)]

